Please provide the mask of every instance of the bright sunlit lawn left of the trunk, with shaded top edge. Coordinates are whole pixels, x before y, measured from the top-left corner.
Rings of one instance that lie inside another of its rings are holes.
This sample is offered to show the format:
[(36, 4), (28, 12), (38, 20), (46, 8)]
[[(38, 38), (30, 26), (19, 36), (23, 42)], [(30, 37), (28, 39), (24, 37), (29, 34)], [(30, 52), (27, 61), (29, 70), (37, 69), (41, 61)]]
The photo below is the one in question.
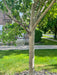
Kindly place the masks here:
[[(0, 51), (0, 71), (9, 72), (23, 71), (28, 67), (29, 56), (24, 51)], [(8, 53), (9, 52), (9, 53)], [(2, 57), (3, 56), (3, 57)]]

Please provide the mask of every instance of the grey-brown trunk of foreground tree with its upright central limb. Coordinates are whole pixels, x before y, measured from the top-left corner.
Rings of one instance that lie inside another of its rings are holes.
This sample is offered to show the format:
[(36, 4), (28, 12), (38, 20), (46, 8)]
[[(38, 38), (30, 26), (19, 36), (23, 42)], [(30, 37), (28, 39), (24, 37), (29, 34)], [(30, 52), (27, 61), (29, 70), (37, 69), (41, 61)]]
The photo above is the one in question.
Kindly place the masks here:
[(30, 19), (30, 35), (29, 35), (29, 75), (34, 74), (34, 30), (32, 27), (34, 24), (34, 7), (32, 4), (31, 19)]

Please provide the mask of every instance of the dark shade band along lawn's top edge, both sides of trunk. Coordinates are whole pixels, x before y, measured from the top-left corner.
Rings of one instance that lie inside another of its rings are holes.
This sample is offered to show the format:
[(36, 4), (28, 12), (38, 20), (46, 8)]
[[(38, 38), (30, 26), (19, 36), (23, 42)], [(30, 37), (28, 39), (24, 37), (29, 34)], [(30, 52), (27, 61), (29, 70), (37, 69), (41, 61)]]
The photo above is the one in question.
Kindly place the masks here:
[[(29, 55), (29, 50), (0, 50), (0, 58), (3, 56), (9, 56), (11, 54), (19, 55), (19, 54), (28, 54)], [(46, 49), (46, 50), (35, 50), (35, 56), (38, 57), (54, 57), (57, 56), (57, 49)]]

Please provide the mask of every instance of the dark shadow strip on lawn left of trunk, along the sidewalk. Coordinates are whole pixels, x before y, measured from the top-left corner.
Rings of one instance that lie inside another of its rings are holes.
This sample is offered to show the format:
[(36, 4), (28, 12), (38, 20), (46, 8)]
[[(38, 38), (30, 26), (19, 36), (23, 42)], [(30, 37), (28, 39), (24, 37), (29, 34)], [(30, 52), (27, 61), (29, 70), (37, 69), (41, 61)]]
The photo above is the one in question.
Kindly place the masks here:
[(19, 54), (28, 54), (28, 50), (0, 50), (0, 58), (3, 58), (4, 56), (9, 56), (9, 55), (19, 55)]

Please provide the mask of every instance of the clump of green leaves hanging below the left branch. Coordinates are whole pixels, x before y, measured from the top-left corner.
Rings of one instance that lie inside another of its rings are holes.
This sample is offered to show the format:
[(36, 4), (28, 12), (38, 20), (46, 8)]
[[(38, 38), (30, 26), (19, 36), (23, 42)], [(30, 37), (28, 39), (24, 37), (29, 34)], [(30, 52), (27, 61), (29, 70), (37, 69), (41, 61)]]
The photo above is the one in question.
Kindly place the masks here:
[(4, 43), (15, 42), (18, 38), (17, 36), (22, 36), (21, 33), (25, 33), (25, 31), (17, 23), (6, 24), (3, 26), (2, 41)]

